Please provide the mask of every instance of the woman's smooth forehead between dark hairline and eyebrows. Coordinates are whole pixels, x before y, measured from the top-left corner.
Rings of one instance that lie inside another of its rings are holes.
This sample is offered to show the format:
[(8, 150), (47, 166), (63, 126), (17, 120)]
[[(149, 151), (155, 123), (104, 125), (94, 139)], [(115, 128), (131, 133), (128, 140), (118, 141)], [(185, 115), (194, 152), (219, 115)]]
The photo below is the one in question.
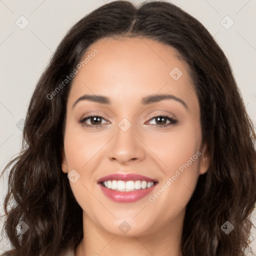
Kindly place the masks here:
[(74, 97), (89, 93), (125, 100), (171, 93), (197, 103), (188, 65), (169, 45), (145, 37), (101, 38), (87, 48), (81, 61), (86, 57), (73, 81)]

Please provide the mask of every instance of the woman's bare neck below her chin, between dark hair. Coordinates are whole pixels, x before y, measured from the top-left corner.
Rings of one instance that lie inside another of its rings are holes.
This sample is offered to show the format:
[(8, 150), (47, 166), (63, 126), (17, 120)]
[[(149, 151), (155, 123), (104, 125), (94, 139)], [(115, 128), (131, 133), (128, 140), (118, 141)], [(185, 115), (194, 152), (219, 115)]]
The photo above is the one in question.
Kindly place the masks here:
[(183, 218), (172, 220), (156, 232), (127, 236), (109, 233), (91, 221), (83, 212), (83, 239), (78, 244), (75, 256), (182, 256), (181, 234)]

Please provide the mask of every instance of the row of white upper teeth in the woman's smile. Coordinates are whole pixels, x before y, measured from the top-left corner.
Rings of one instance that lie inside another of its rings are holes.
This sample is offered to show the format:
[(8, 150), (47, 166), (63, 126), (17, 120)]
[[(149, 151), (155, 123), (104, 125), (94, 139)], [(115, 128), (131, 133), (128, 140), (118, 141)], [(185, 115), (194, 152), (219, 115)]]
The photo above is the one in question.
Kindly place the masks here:
[(107, 180), (103, 182), (106, 188), (111, 188), (118, 191), (132, 191), (134, 189), (145, 189), (153, 186), (154, 182), (146, 182), (144, 180)]

